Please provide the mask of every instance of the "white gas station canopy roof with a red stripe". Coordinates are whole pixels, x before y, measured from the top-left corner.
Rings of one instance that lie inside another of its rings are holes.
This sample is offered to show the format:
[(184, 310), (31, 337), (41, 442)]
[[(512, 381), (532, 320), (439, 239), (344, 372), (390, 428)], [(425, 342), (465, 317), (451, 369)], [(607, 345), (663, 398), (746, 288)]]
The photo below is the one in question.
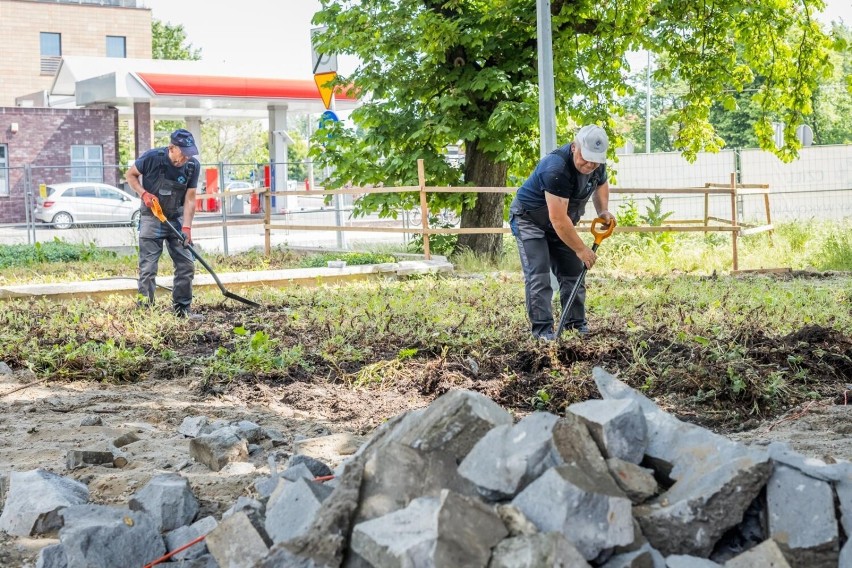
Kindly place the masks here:
[[(109, 105), (132, 115), (133, 104), (149, 102), (152, 118), (267, 118), (268, 108), (325, 110), (312, 78), (285, 79), (235, 74), (231, 66), (204, 61), (66, 56), (50, 88), (56, 104)], [(63, 97), (65, 97), (63, 99)], [(337, 110), (358, 106), (352, 96), (335, 95)]]

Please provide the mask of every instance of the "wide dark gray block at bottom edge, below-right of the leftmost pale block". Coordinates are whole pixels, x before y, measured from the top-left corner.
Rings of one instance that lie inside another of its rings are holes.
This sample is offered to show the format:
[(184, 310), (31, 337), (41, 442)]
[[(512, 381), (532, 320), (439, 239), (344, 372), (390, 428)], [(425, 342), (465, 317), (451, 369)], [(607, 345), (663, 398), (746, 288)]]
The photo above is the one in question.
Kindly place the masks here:
[(60, 513), (59, 542), (68, 566), (144, 566), (166, 553), (154, 519), (144, 511), (77, 505)]

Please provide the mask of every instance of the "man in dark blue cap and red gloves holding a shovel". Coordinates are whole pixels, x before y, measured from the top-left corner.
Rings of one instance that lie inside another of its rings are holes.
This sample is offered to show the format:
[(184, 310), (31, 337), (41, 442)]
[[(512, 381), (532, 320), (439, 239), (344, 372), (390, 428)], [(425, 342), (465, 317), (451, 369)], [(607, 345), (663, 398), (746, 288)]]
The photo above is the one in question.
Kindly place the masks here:
[(201, 164), (195, 158), (198, 146), (188, 130), (172, 132), (169, 145), (142, 154), (127, 172), (127, 183), (142, 198), (144, 207), (139, 219), (139, 302), (153, 306), (157, 264), (163, 254), (163, 243), (175, 265), (172, 309), (178, 317), (201, 319), (191, 314), (192, 278), (195, 264), (183, 242), (151, 212), (156, 199), (168, 222), (192, 244), (192, 218), (195, 216), (195, 190)]

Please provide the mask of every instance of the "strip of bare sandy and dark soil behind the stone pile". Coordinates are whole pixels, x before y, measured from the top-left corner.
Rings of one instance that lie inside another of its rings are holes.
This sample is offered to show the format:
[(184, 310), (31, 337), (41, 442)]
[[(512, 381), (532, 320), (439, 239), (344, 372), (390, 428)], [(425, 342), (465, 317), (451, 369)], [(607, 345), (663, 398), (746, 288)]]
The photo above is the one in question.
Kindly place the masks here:
[[(216, 338), (208, 338), (216, 341)], [(787, 442), (805, 455), (852, 460), (852, 369), (850, 339), (817, 327), (806, 327), (780, 339), (757, 333), (747, 339), (758, 360), (767, 365), (789, 361), (807, 367), (811, 376), (823, 377), (812, 385), (813, 400), (791, 400), (785, 406), (750, 414), (748, 400), (729, 396), (696, 398), (695, 384), (723, 372), (704, 362), (691, 365), (693, 353), (677, 346), (664, 333), (646, 338), (656, 361), (668, 362), (665, 373), (648, 384), (638, 373), (624, 380), (645, 389), (665, 410), (745, 443)], [(26, 372), (0, 375), (0, 472), (44, 468), (86, 483), (94, 503), (124, 504), (153, 475), (179, 471), (185, 475), (202, 504), (202, 514), (217, 518), (240, 495), (252, 495), (252, 484), (268, 474), (268, 458), (283, 464), (293, 443), (331, 433), (369, 435), (381, 422), (407, 409), (428, 405), (452, 388), (482, 392), (523, 415), (536, 408), (561, 412), (570, 401), (597, 396), (586, 371), (600, 364), (613, 372), (635, 368), (635, 361), (618, 349), (619, 337), (574, 341), (541, 348), (482, 357), (430, 356), (386, 369), (387, 382), (355, 388), (342, 380), (314, 377), (244, 377), (227, 385), (203, 381), (197, 369), (176, 372), (164, 365), (145, 380), (130, 384), (97, 381), (43, 382), (14, 390), (34, 381)], [(396, 346), (388, 346), (398, 352)], [(515, 371), (507, 380), (507, 367)], [(554, 370), (570, 371), (555, 382)], [(548, 400), (536, 398), (548, 389)], [(14, 392), (12, 392), (14, 390)], [(720, 391), (721, 392), (721, 391)], [(709, 395), (708, 395), (709, 396)], [(779, 399), (783, 397), (779, 395)], [(850, 403), (850, 404), (847, 404)], [(226, 468), (211, 472), (189, 459), (189, 440), (177, 429), (186, 416), (211, 420), (251, 420), (284, 433), (287, 443), (267, 442), (250, 458), (253, 468)], [(84, 418), (101, 424), (81, 426)], [(123, 468), (92, 466), (68, 471), (69, 450), (107, 450), (120, 435), (134, 432), (141, 439), (124, 448)], [(323, 456), (332, 467), (344, 456)], [(54, 539), (18, 539), (0, 535), (0, 566), (34, 566), (38, 550)]]

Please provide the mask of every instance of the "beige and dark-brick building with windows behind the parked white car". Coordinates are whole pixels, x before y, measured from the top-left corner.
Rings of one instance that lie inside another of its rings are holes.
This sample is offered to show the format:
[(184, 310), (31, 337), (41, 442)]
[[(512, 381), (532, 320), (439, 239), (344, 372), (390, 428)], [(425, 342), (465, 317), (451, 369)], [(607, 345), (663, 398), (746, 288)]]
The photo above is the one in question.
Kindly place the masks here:
[(118, 181), (118, 111), (55, 108), (50, 91), (65, 56), (150, 58), (151, 10), (136, 0), (0, 0), (0, 21), (0, 223), (20, 223), (27, 188)]

